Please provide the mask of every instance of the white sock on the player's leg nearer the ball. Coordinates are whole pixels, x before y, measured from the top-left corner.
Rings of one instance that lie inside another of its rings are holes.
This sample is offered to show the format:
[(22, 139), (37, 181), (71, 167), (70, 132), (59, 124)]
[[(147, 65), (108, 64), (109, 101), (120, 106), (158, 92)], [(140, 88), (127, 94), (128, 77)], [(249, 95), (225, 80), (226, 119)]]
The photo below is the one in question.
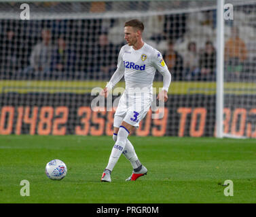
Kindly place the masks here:
[(115, 166), (118, 159), (120, 158), (120, 155), (124, 151), (128, 135), (129, 135), (128, 130), (121, 125), (117, 134), (117, 141), (115, 142), (115, 145), (113, 146), (111, 155), (109, 157), (109, 163), (107, 164), (107, 167), (106, 167), (107, 170), (110, 170), (110, 171), (113, 170), (113, 167)]

